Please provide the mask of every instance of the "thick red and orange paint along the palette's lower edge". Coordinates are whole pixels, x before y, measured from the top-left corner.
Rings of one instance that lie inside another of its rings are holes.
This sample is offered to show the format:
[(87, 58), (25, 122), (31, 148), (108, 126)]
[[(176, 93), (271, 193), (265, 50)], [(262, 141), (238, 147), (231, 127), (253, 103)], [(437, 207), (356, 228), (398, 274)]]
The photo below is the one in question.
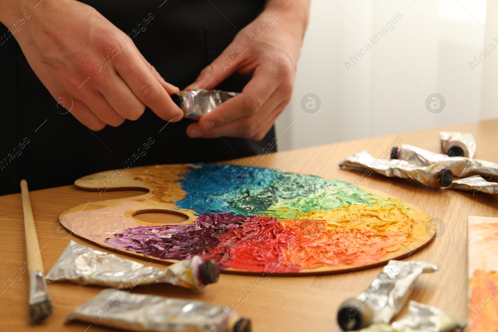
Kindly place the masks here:
[[(293, 273), (322, 266), (362, 266), (377, 262), (411, 242), (411, 232), (346, 229), (317, 220), (255, 216), (220, 236), (207, 257), (231, 268)], [(277, 265), (274, 265), (274, 263)]]

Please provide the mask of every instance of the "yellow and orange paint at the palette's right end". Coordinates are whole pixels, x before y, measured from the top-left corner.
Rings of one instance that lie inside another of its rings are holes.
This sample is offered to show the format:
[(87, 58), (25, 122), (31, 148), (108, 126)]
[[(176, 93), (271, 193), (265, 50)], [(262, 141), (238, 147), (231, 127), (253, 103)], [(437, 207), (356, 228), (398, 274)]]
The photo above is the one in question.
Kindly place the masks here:
[[(296, 239), (306, 242), (312, 238), (315, 244), (297, 241), (295, 250), (287, 252), (287, 261), (308, 268), (320, 267), (323, 262), (336, 266), (370, 264), (427, 234), (427, 225), (432, 225), (429, 215), (407, 208), (401, 200), (392, 201), (395, 204), (346, 205), (330, 211), (311, 211), (301, 220), (280, 220), (281, 227), (295, 234)], [(279, 217), (286, 214), (292, 216), (295, 211), (281, 211)]]

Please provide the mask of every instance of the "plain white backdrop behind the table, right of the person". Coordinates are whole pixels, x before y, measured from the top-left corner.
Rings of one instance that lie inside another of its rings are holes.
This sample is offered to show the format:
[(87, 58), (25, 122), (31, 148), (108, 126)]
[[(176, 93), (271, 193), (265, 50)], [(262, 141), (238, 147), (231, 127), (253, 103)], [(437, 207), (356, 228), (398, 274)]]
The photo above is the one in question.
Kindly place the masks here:
[[(313, 0), (292, 101), (276, 123), (279, 149), (498, 117), (498, 50), (469, 66), (485, 44), (498, 46), (498, 4), (489, 1), (487, 13), (486, 0)], [(366, 43), (373, 48), (348, 71)], [(321, 100), (317, 113), (301, 108), (308, 93)], [(438, 114), (425, 107), (432, 93), (446, 100)]]

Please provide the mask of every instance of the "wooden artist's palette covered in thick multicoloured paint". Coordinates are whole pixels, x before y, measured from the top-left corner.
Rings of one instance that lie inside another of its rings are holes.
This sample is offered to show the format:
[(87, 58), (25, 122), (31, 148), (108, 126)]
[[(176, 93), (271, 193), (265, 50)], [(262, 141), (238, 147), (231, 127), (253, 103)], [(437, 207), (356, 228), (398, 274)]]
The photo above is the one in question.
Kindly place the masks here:
[[(100, 172), (75, 185), (148, 190), (70, 208), (59, 220), (89, 242), (160, 263), (200, 254), (234, 273), (329, 274), (408, 256), (435, 235), (433, 219), (408, 202), (269, 168), (155, 165)], [(146, 212), (185, 221), (141, 221)]]

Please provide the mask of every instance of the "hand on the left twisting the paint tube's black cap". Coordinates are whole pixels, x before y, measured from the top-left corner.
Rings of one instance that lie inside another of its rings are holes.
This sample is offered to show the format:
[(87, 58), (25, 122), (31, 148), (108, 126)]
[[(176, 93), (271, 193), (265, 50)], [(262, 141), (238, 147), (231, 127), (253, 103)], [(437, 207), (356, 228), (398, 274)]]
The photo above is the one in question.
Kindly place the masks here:
[(131, 38), (94, 8), (75, 0), (44, 0), (36, 8), (36, 1), (0, 2), (9, 9), (8, 17), (1, 17), (6, 26), (15, 15), (29, 15), (14, 37), (60, 106), (89, 128), (136, 120), (145, 106), (164, 120), (182, 118), (169, 97), (179, 89), (164, 81)]

